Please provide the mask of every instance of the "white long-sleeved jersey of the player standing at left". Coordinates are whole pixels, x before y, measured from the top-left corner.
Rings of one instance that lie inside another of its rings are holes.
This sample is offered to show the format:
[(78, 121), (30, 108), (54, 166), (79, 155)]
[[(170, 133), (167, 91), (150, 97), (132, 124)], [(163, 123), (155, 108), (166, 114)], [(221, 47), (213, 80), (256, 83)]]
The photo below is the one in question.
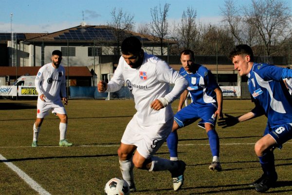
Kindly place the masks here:
[(45, 95), (46, 102), (60, 101), (60, 92), (62, 97), (66, 96), (66, 78), (65, 69), (59, 65), (54, 68), (52, 63), (42, 66), (36, 77), (36, 88), (38, 93), (38, 100), (41, 94)]

